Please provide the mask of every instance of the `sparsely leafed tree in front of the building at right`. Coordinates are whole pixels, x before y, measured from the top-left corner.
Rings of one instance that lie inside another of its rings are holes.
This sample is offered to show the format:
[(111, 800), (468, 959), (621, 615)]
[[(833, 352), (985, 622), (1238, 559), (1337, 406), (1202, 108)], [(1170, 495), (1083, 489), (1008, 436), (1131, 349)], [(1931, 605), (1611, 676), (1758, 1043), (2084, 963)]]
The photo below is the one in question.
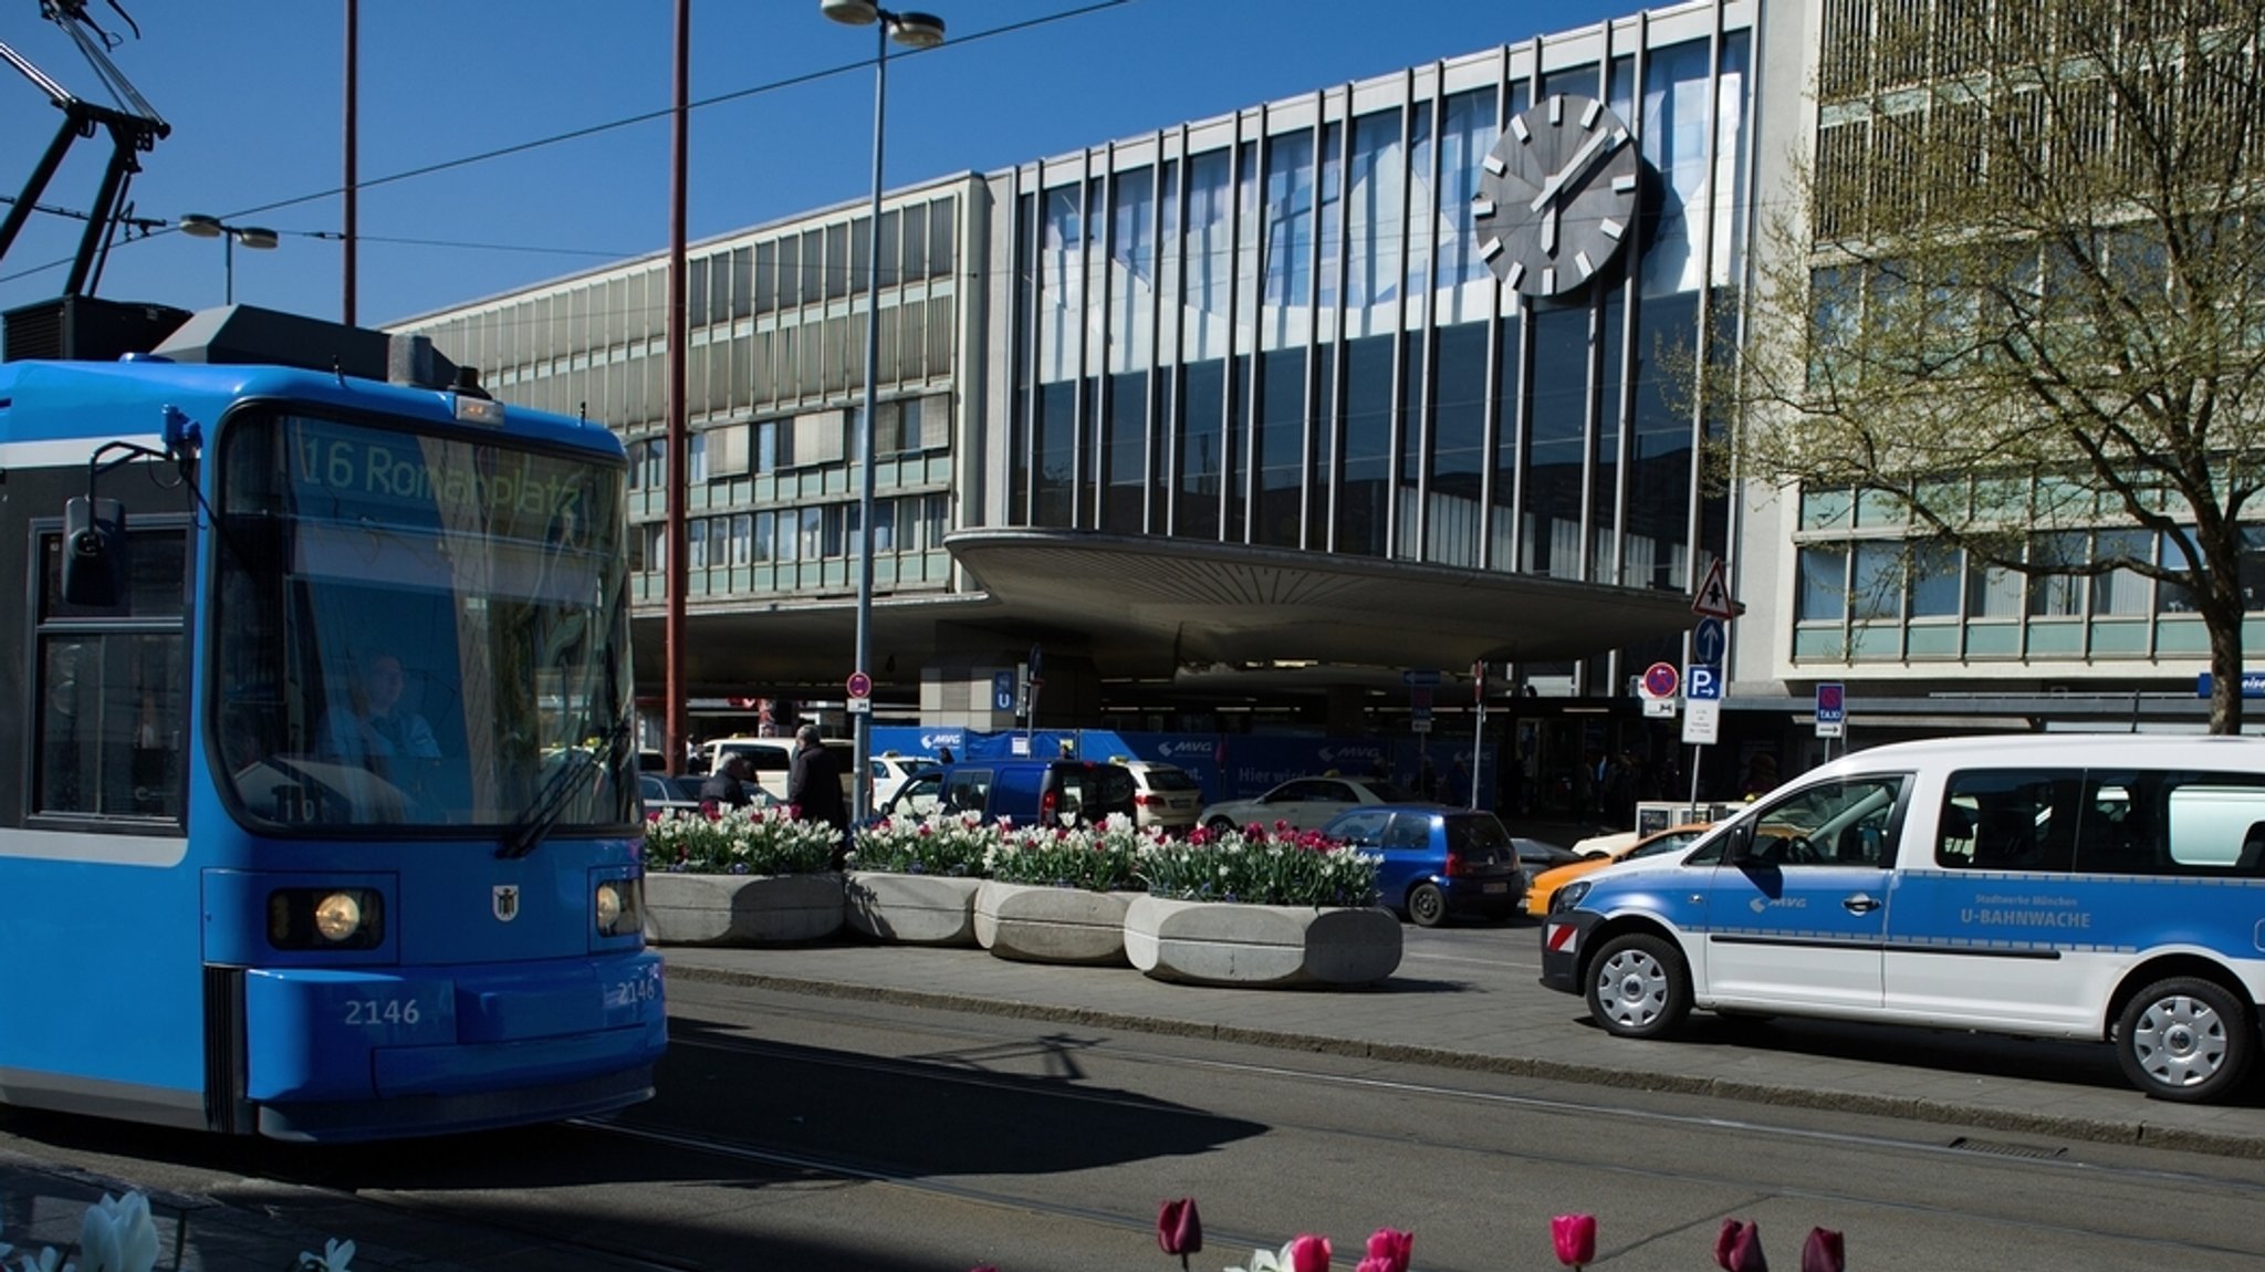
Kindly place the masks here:
[[(1907, 561), (2154, 579), (2240, 731), (2265, 568), (2265, 0), (1830, 2), (1814, 158), (1694, 378), (1717, 480)], [(2245, 521), (2251, 525), (2245, 527)]]

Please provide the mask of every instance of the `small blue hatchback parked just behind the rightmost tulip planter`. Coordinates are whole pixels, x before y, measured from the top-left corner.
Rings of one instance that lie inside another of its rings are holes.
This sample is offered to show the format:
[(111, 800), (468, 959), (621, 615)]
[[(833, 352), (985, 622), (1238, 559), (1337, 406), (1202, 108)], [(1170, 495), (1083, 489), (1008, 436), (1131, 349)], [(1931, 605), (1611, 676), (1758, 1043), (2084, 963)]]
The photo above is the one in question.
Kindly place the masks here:
[(1368, 803), (1339, 813), (1320, 833), (1382, 853), (1377, 903), (1418, 928), (1436, 928), (1454, 914), (1506, 919), (1527, 899), (1518, 844), (1486, 810)]

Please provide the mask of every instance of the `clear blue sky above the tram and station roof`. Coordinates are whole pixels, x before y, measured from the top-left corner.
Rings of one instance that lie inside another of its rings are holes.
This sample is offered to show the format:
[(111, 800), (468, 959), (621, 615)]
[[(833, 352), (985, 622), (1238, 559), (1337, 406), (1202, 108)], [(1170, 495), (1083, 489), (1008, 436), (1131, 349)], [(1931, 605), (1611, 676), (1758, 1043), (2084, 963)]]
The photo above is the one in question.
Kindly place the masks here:
[[(281, 233), (236, 249), (242, 303), (340, 317), (344, 0), (104, 0), (118, 68), (172, 124), (143, 154), (134, 213), (211, 213)], [(911, 186), (1139, 136), (1366, 79), (1638, 5), (1574, 0), (920, 0), (949, 25), (890, 57), (888, 177)], [(358, 319), (378, 326), (668, 247), (673, 0), (362, 0)], [(818, 0), (691, 2), (689, 235), (863, 199), (872, 188), (872, 27)], [(93, 68), (36, 0), (0, 43), (82, 97)], [(713, 104), (702, 104), (713, 100)], [(655, 115), (643, 122), (641, 115)], [(0, 70), (0, 192), (61, 111)], [(607, 127), (621, 124), (621, 127)], [(598, 129), (598, 131), (591, 131)], [(392, 179), (562, 134), (587, 134)], [(43, 208), (84, 210), (109, 138), (79, 138)], [(61, 290), (82, 224), (34, 215), (0, 260), (0, 308)], [(215, 240), (120, 242), (100, 296), (217, 306)]]

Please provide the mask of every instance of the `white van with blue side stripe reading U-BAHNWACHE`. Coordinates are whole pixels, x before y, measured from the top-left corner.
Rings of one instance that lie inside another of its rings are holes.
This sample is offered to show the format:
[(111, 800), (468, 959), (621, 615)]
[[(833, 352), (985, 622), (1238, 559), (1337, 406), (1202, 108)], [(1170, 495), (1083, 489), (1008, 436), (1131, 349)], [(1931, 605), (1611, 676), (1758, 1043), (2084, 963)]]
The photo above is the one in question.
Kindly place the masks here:
[(1703, 1007), (2113, 1041), (2147, 1095), (2217, 1100), (2258, 1052), (2260, 932), (2265, 738), (1943, 738), (1567, 883), (1542, 985), (1638, 1039)]

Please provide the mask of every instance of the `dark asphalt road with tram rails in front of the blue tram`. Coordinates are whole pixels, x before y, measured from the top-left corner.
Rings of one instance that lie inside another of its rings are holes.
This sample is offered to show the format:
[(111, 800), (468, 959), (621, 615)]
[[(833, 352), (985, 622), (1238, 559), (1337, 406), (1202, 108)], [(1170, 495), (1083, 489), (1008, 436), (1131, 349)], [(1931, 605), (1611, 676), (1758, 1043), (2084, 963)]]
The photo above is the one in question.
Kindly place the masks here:
[[(1465, 944), (1486, 948), (1441, 957)], [(1812, 1224), (1846, 1231), (1853, 1267), (2265, 1258), (2265, 1161), (727, 982), (673, 980), (670, 1009), (661, 1095), (605, 1125), (344, 1152), (0, 1127), (256, 1213), (281, 1234), (260, 1256), (349, 1236), (356, 1267), (428, 1272), (1169, 1267), (1151, 1224), (1182, 1195), (1210, 1234), (1194, 1267), (1300, 1231), (1352, 1267), (1375, 1227), (1413, 1231), (1427, 1272), (1554, 1267), (1565, 1211), (1599, 1215), (1595, 1267), (1617, 1272), (1710, 1265), (1724, 1218), (1758, 1222), (1780, 1267)]]

